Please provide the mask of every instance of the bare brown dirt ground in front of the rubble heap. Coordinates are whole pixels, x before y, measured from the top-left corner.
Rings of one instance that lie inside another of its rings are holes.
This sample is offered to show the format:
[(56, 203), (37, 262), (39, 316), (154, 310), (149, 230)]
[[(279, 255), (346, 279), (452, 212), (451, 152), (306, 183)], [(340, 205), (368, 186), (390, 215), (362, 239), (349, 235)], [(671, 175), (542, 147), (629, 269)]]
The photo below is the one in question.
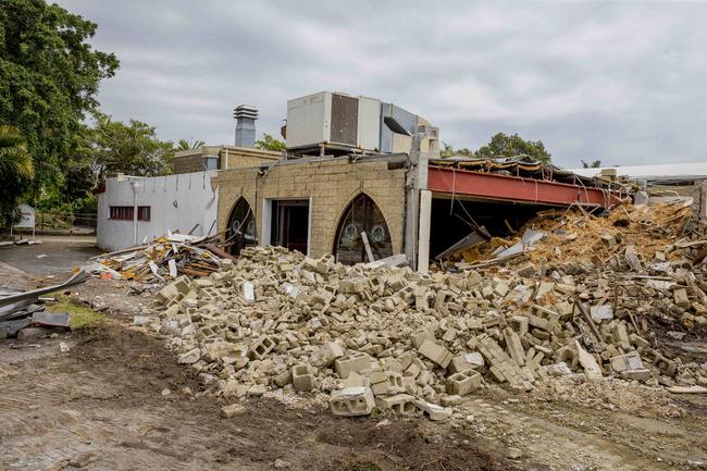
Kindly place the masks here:
[[(0, 286), (38, 282), (9, 273), (0, 270)], [(531, 394), (494, 386), (445, 422), (342, 419), (272, 398), (222, 419), (226, 402), (199, 394), (166, 340), (131, 325), (151, 302), (131, 286), (72, 288), (104, 313), (88, 332), (0, 340), (0, 470), (707, 469), (707, 397), (627, 383), (556, 381)], [(506, 457), (509, 447), (520, 459)]]

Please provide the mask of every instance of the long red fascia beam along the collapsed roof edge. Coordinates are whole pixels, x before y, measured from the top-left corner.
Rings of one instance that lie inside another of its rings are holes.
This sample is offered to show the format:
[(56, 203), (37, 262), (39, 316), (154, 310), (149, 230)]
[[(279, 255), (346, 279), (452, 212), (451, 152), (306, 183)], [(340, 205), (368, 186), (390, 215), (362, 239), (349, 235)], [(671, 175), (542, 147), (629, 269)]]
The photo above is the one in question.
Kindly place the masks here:
[(608, 208), (621, 201), (621, 195), (617, 191), (544, 179), (436, 166), (430, 166), (427, 170), (427, 189), (459, 196), (535, 202), (538, 204), (570, 206), (572, 203), (582, 203)]

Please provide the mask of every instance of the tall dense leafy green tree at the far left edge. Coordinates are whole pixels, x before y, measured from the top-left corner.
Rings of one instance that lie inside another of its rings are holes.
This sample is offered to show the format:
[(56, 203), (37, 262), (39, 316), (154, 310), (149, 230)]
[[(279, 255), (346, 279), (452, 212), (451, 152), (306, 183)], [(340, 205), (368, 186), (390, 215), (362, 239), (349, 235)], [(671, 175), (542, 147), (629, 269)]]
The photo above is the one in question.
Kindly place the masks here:
[(34, 160), (35, 178), (0, 175), (3, 208), (61, 188), (65, 162), (80, 146), (84, 119), (97, 109), (99, 84), (119, 61), (95, 50), (97, 25), (44, 0), (0, 1), (0, 122), (20, 129)]

